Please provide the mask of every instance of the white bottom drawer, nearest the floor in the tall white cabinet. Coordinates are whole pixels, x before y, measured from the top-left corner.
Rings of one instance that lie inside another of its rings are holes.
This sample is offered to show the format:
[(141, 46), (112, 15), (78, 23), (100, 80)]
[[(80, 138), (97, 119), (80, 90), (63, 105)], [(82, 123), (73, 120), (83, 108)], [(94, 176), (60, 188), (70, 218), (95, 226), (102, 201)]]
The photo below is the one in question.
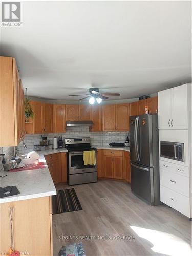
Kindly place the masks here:
[(160, 186), (160, 197), (161, 202), (190, 217), (190, 202), (188, 197), (163, 186)]

